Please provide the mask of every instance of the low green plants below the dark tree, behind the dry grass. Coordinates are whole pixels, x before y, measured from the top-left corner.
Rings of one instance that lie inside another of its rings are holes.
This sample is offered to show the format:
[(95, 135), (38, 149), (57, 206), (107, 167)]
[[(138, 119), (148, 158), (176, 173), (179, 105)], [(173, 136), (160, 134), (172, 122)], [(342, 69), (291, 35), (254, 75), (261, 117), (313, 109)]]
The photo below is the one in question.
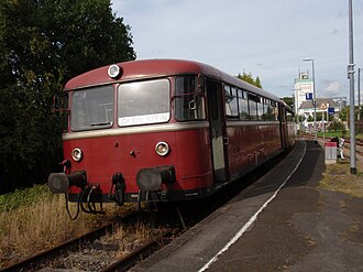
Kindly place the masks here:
[(44, 197), (53, 197), (53, 194), (45, 185), (34, 185), (26, 189), (15, 189), (14, 193), (0, 196), (0, 213), (29, 206), (38, 202), (38, 199), (44, 199)]

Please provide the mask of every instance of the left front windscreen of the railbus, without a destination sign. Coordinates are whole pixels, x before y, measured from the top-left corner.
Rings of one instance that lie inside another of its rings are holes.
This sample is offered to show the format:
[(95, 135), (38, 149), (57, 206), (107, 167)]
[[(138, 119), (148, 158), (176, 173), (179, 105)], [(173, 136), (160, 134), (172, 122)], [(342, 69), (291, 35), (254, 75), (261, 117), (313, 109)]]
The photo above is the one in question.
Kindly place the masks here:
[(103, 129), (113, 124), (112, 86), (78, 90), (73, 94), (72, 130)]

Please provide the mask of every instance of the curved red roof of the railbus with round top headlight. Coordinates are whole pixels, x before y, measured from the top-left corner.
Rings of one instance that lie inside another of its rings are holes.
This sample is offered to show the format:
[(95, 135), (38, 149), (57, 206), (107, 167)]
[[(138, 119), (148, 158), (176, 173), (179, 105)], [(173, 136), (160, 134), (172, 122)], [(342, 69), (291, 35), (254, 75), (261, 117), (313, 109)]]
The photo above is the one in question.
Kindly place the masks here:
[(234, 76), (231, 76), (218, 68), (215, 68), (208, 64), (185, 61), (185, 59), (142, 59), (117, 63), (121, 67), (122, 75), (120, 78), (112, 79), (108, 75), (108, 66), (99, 67), (70, 79), (64, 90), (72, 90), (84, 88), (87, 86), (112, 84), (116, 81), (128, 81), (135, 79), (146, 79), (161, 76), (173, 76), (180, 74), (202, 74), (205, 76), (222, 80), (232, 86), (240, 87), (242, 89), (255, 93), (266, 98), (279, 101), (280, 99), (263, 89), (260, 89), (249, 83), (245, 83)]

